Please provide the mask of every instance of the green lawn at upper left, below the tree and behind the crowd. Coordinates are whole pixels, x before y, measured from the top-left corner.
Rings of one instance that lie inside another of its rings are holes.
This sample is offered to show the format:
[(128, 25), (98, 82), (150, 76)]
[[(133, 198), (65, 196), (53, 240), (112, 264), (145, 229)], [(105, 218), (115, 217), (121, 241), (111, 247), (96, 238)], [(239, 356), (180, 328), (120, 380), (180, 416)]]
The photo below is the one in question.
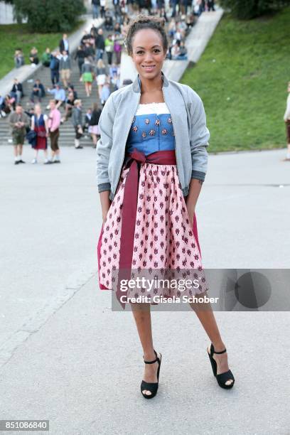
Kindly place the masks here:
[[(79, 27), (82, 21), (77, 24)], [(76, 27), (76, 28), (77, 28)], [(76, 29), (75, 29), (76, 30)], [(75, 31), (74, 30), (74, 31)], [(51, 50), (58, 47), (63, 33), (30, 33), (26, 24), (7, 24), (0, 26), (0, 78), (4, 77), (14, 68), (14, 52), (16, 48), (22, 48), (25, 62), (29, 64), (29, 53), (33, 46), (38, 49), (38, 55), (49, 47)]]

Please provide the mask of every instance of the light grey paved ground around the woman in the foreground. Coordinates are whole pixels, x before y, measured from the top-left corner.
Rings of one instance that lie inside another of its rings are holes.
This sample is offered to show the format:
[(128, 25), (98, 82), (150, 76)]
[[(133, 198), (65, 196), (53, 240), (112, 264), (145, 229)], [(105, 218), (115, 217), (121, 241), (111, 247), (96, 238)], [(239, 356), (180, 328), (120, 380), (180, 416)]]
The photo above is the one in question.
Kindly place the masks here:
[[(161, 387), (145, 402), (131, 313), (111, 312), (98, 289), (95, 150), (65, 148), (53, 166), (14, 166), (10, 146), (0, 156), (2, 419), (50, 419), (57, 435), (290, 434), (289, 313), (216, 313), (230, 392), (215, 382), (195, 315), (154, 313)], [(283, 156), (210, 156), (196, 210), (205, 267), (289, 268)]]

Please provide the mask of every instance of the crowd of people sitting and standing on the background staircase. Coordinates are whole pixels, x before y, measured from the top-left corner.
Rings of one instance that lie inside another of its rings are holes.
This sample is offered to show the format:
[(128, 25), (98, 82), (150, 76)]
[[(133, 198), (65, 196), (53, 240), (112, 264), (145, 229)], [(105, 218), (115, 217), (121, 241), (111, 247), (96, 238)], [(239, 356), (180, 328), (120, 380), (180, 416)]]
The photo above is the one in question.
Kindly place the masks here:
[[(170, 14), (164, 0), (127, 1), (113, 0), (113, 8), (109, 9), (105, 1), (92, 0), (92, 14), (94, 18), (104, 18), (102, 26), (97, 23), (87, 28), (80, 39), (80, 45), (74, 53), (71, 52), (68, 35), (63, 34), (58, 50), (46, 48), (38, 57), (36, 47), (31, 48), (29, 61), (32, 66), (42, 63), (50, 70), (51, 86), (46, 87), (40, 79), (33, 83), (30, 93), (30, 107), (24, 110), (21, 106), (23, 86), (17, 79), (9, 95), (0, 96), (0, 117), (9, 115), (11, 136), (14, 144), (14, 163), (25, 163), (22, 150), (25, 139), (34, 150), (31, 163), (38, 163), (40, 150), (44, 152), (44, 163), (60, 163), (60, 149), (58, 139), (60, 125), (71, 119), (75, 130), (75, 149), (82, 149), (80, 139), (84, 134), (90, 134), (92, 146), (97, 146), (100, 136), (98, 122), (102, 107), (104, 107), (110, 93), (131, 82), (124, 80), (121, 84), (120, 63), (124, 49), (124, 38), (131, 16), (146, 13), (162, 16), (166, 22), (168, 33), (167, 58), (172, 60), (186, 60), (186, 36), (194, 26), (197, 17), (203, 11), (214, 10), (214, 1), (210, 0), (170, 0)], [(104, 31), (107, 36), (104, 36)], [(16, 68), (24, 64), (21, 48), (16, 50)], [(73, 63), (77, 63), (79, 79), (85, 87), (85, 95), (92, 96), (93, 87), (97, 88), (94, 102), (84, 114), (82, 101), (77, 95), (75, 85), (71, 81)], [(95, 84), (95, 85), (94, 85)], [(50, 95), (47, 107), (41, 107), (43, 97)], [(96, 98), (97, 100), (97, 98)], [(48, 111), (45, 114), (45, 110)], [(48, 139), (50, 139), (51, 155), (48, 156)]]

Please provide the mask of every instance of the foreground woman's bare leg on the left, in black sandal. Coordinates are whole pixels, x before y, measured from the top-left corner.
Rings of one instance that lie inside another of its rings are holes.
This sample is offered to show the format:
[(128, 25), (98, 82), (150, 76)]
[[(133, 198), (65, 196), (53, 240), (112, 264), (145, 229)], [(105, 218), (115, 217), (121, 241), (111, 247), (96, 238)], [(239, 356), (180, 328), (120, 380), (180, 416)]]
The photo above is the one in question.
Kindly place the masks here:
[[(150, 304), (131, 304), (131, 308), (143, 348), (144, 360), (153, 361), (156, 356), (152, 339)], [(157, 355), (160, 357), (159, 353)], [(144, 366), (144, 381), (157, 382), (158, 363), (145, 364)], [(149, 390), (143, 390), (143, 393), (151, 394)]]

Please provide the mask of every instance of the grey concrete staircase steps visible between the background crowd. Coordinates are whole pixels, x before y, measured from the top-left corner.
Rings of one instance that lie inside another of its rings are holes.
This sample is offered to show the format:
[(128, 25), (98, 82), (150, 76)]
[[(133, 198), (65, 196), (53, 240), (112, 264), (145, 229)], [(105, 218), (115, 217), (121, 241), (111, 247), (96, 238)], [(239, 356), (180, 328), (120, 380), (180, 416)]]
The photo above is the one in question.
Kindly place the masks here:
[[(108, 32), (106, 32), (104, 28), (103, 31), (104, 31), (104, 37), (106, 37)], [(103, 56), (103, 60), (104, 63), (107, 65), (107, 55), (105, 53)], [(114, 56), (113, 56), (113, 61), (114, 61)], [(50, 88), (52, 87), (50, 81), (50, 68), (41, 67), (41, 69), (36, 71), (36, 73), (33, 74), (28, 80), (22, 83), (25, 97), (21, 99), (21, 104), (23, 105), (24, 110), (26, 110), (31, 105), (30, 95), (31, 95), (31, 90), (33, 87), (34, 80), (36, 80), (36, 78), (40, 78), (41, 82), (45, 86), (45, 89), (47, 89), (47, 87)], [(29, 82), (29, 80), (33, 80), (33, 82)], [(97, 82), (96, 80), (93, 82), (92, 95), (91, 97), (87, 97), (85, 93), (85, 85), (82, 82), (80, 82), (79, 69), (78, 69), (77, 62), (75, 60), (73, 60), (73, 68), (72, 68), (72, 75), (70, 78), (70, 82), (74, 85), (75, 90), (77, 91), (77, 97), (80, 98), (80, 100), (82, 100), (82, 114), (85, 120), (85, 114), (87, 112), (87, 109), (89, 107), (92, 107), (92, 104), (94, 102), (100, 103), (99, 95), (97, 92)], [(46, 110), (45, 108), (52, 97), (53, 95), (47, 93), (47, 95), (45, 95), (45, 97), (42, 99), (41, 106), (43, 108), (43, 113), (48, 114), (49, 111)], [(63, 107), (60, 108), (60, 112), (62, 115), (64, 114), (65, 111)], [(68, 121), (60, 126), (59, 144), (60, 146), (74, 146), (75, 145), (74, 138), (75, 138), (75, 129), (73, 128), (73, 123), (71, 122), (71, 118), (68, 118)], [(9, 139), (11, 139), (11, 131), (9, 128), (9, 122), (7, 116), (6, 118), (0, 119), (0, 145), (9, 144)], [(90, 135), (87, 134), (86, 136), (82, 136), (82, 139), (80, 140), (80, 144), (82, 146), (92, 146), (92, 140), (90, 139)]]

